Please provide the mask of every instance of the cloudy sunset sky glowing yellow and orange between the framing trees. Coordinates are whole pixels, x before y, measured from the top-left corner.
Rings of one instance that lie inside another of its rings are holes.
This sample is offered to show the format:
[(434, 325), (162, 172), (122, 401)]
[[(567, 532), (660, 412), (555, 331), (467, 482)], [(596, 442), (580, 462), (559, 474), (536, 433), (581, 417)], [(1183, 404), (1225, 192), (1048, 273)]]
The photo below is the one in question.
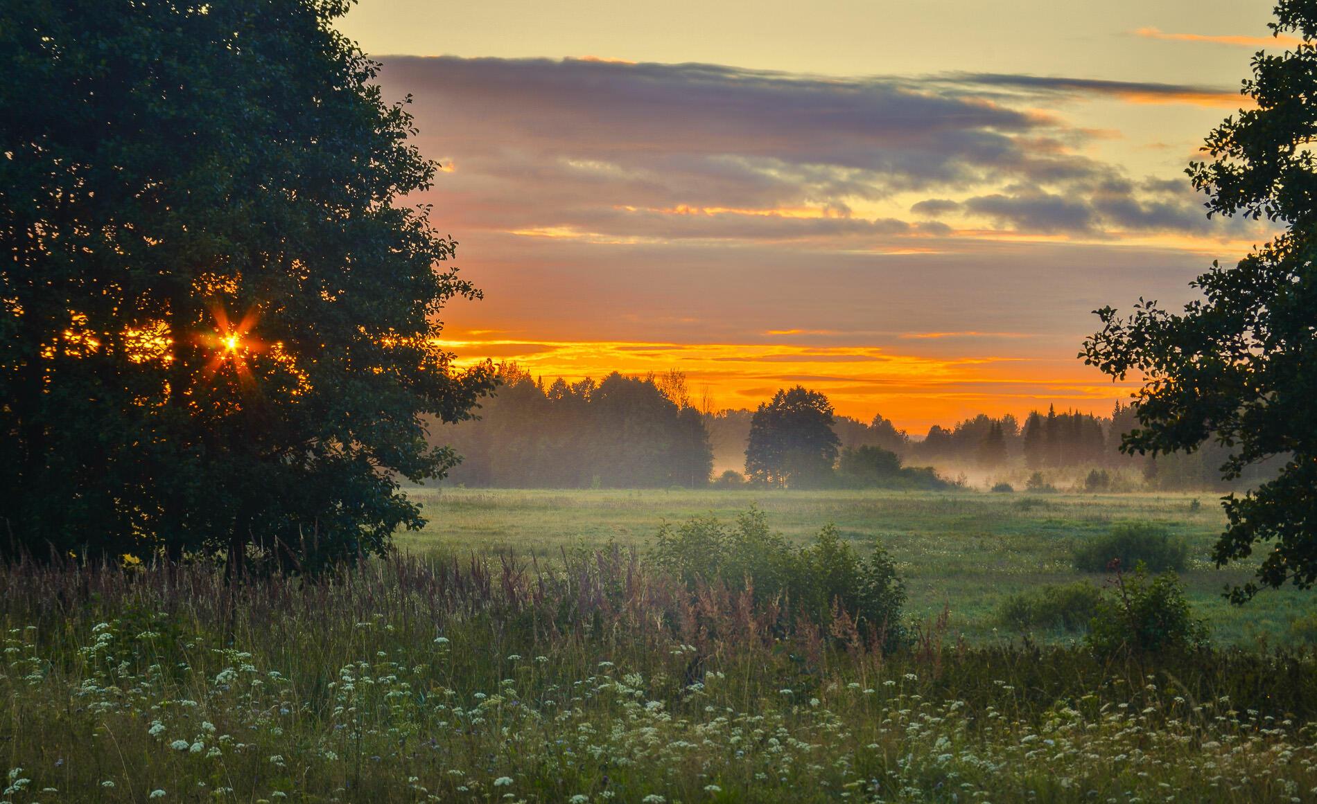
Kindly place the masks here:
[(803, 384), (911, 433), (1108, 413), (1092, 311), (1180, 305), (1271, 237), (1184, 175), (1268, 1), (361, 0), (340, 30), (443, 166), (412, 203), (485, 299), (461, 361)]

